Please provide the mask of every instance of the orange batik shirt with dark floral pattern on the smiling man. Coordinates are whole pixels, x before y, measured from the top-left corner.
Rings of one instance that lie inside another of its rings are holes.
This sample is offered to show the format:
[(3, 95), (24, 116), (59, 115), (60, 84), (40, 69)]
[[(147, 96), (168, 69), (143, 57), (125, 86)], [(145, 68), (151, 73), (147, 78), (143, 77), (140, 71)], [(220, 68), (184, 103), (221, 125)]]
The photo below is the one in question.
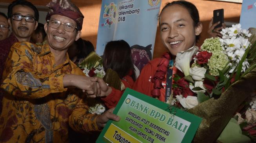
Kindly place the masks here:
[[(3, 68), (3, 67), (0, 67)], [(56, 66), (49, 45), (15, 43), (5, 63), (1, 88), (6, 92), (0, 116), (0, 142), (68, 142), (68, 128), (98, 130), (82, 92), (64, 88), (65, 73), (84, 75), (69, 60)]]

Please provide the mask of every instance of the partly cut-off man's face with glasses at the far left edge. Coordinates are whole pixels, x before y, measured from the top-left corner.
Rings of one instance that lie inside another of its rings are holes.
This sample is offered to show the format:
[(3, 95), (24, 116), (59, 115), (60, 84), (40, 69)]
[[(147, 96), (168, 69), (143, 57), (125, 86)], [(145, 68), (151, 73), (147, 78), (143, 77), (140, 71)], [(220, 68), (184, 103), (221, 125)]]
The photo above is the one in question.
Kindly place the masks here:
[(9, 35), (9, 23), (7, 16), (0, 12), (0, 40), (4, 40)]

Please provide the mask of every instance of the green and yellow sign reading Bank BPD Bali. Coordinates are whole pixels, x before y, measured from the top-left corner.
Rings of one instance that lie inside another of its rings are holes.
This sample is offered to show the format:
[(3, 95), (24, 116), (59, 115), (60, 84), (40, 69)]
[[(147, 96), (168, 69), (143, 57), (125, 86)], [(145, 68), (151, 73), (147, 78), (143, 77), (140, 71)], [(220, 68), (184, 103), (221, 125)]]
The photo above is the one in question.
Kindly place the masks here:
[(96, 143), (191, 143), (202, 118), (127, 88)]

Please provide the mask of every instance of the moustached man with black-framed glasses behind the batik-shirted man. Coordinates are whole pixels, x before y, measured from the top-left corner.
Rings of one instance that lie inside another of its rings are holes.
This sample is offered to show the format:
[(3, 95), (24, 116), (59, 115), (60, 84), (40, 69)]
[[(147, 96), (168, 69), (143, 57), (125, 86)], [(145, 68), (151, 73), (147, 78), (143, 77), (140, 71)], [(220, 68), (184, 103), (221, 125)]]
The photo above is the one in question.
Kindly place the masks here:
[[(4, 70), (6, 58), (11, 46), (15, 42), (30, 41), (31, 35), (37, 27), (39, 13), (36, 7), (26, 0), (15, 0), (8, 6), (8, 23), (12, 33), (0, 41), (0, 80)], [(2, 96), (0, 89), (0, 113), (2, 111)]]

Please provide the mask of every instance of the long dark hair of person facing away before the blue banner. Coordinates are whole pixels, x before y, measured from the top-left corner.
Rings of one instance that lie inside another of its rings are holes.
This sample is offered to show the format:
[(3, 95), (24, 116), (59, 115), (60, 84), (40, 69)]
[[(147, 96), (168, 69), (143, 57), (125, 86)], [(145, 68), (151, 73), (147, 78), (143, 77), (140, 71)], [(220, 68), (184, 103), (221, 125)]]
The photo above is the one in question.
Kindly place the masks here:
[(131, 77), (135, 80), (130, 45), (124, 40), (108, 42), (103, 54), (103, 68), (104, 70), (111, 68), (116, 71), (120, 79), (132, 70)]

